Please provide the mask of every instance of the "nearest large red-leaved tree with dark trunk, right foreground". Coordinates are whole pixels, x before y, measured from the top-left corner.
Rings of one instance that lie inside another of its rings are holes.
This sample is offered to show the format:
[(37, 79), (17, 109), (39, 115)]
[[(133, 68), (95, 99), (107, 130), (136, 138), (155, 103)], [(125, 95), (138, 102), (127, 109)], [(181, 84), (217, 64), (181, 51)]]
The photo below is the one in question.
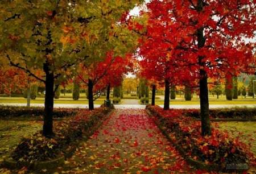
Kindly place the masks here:
[(161, 39), (150, 49), (168, 51), (175, 61), (168, 64), (181, 69), (179, 78), (189, 72), (190, 81), (199, 81), (202, 135), (211, 134), (208, 77), (254, 73), (253, 43), (246, 39), (254, 37), (255, 4), (255, 0), (147, 3), (147, 32)]

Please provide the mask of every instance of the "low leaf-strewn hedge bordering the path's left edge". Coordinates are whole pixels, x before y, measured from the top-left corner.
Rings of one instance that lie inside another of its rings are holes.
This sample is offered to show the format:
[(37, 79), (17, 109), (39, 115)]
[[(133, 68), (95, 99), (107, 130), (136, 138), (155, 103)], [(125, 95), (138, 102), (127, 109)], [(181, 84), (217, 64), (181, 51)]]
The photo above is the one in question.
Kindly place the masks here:
[(11, 154), (11, 158), (33, 164), (36, 161), (50, 160), (65, 154), (69, 147), (89, 136), (90, 131), (106, 113), (108, 109), (105, 107), (93, 111), (79, 109), (73, 117), (54, 123), (54, 137), (46, 138), (42, 136), (42, 131), (24, 137)]

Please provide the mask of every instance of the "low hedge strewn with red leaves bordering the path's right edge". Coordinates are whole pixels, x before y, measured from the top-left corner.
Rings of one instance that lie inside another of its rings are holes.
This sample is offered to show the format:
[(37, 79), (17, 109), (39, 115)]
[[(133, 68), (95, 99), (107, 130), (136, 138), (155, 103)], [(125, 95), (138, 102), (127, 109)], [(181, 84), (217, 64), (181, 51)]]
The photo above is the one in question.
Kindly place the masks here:
[[(185, 117), (184, 110), (163, 110), (159, 106), (148, 106), (152, 117), (184, 156), (203, 161), (205, 164), (218, 164), (222, 169), (229, 164), (249, 164), (256, 166), (255, 155), (250, 147), (232, 138), (227, 132), (212, 128), (212, 135), (201, 136), (201, 123)], [(191, 110), (187, 110), (191, 112)], [(214, 127), (218, 127), (217, 123)]]

